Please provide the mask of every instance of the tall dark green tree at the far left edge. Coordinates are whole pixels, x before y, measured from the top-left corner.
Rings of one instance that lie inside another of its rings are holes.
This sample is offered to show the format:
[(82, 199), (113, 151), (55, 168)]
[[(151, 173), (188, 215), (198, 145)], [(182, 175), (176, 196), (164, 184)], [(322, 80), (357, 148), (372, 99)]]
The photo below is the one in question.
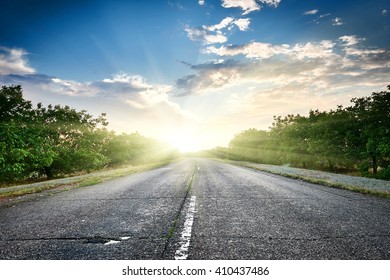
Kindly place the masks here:
[(37, 176), (41, 166), (52, 163), (53, 152), (36, 129), (31, 102), (24, 100), (21, 86), (3, 86), (0, 100), (0, 181)]

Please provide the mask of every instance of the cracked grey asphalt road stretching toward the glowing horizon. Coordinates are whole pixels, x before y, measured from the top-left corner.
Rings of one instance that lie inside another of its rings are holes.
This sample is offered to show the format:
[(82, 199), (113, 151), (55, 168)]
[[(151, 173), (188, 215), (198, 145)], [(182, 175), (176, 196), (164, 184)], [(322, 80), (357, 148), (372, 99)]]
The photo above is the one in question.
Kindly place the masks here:
[(390, 259), (390, 201), (185, 159), (0, 207), (0, 259)]

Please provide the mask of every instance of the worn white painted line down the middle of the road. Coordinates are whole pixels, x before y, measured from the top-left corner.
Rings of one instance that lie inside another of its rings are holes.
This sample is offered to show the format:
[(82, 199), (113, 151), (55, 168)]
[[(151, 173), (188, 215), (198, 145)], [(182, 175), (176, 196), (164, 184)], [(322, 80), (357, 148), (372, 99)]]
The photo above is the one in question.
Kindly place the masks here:
[(196, 196), (191, 196), (188, 206), (184, 228), (180, 237), (180, 248), (176, 250), (175, 260), (185, 260), (188, 258), (188, 248), (190, 246), (192, 224), (194, 223)]

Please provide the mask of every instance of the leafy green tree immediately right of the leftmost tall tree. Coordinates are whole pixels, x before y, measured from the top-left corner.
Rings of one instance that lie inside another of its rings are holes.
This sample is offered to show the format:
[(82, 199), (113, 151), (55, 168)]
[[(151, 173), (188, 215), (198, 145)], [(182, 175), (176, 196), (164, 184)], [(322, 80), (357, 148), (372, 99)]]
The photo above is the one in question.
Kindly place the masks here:
[(42, 124), (37, 129), (46, 135), (54, 153), (51, 164), (42, 168), (47, 177), (91, 171), (107, 163), (103, 155), (105, 114), (93, 118), (85, 110), (38, 104), (35, 119)]

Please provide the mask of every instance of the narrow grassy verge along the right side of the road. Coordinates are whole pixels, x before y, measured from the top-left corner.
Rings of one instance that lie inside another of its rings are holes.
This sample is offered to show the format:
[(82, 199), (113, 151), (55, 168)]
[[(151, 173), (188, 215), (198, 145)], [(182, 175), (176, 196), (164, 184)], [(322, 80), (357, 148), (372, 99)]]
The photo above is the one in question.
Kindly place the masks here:
[[(217, 159), (217, 160), (220, 160), (220, 159)], [(319, 185), (323, 185), (323, 186), (327, 186), (327, 187), (331, 187), (331, 188), (344, 189), (344, 190), (349, 190), (349, 191), (353, 191), (353, 192), (357, 192), (357, 193), (361, 193), (361, 194), (365, 194), (365, 195), (372, 195), (372, 196), (390, 199), (390, 190), (375, 190), (375, 189), (370, 189), (370, 188), (364, 188), (362, 186), (357, 186), (357, 185), (345, 184), (345, 183), (340, 183), (340, 182), (333, 182), (329, 179), (320, 179), (320, 178), (315, 178), (315, 177), (311, 177), (311, 176), (289, 174), (289, 173), (283, 172), (283, 171), (275, 171), (275, 170), (271, 170), (271, 169), (267, 169), (267, 168), (257, 167), (257, 166), (254, 166), (254, 164), (250, 163), (250, 162), (232, 161), (232, 160), (222, 160), (222, 161), (225, 163), (230, 163), (233, 165), (252, 168), (255, 170), (268, 172), (271, 174), (280, 175), (280, 176), (288, 177), (288, 178), (295, 179), (295, 180), (302, 180), (305, 182), (319, 184)]]

